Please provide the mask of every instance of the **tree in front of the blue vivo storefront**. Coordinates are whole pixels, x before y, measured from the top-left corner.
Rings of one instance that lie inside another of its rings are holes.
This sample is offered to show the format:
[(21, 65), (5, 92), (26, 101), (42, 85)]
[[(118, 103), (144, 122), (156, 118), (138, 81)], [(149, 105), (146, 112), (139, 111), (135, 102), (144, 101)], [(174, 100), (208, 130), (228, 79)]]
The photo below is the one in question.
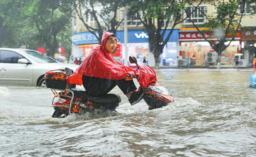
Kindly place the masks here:
[[(198, 5), (203, 1), (200, 0)], [(159, 57), (163, 53), (163, 48), (171, 37), (174, 27), (187, 19), (183, 12), (187, 2), (188, 0), (134, 0), (130, 4), (130, 16), (142, 12), (139, 20), (148, 32), (148, 44), (150, 52), (154, 54), (155, 69), (159, 69)], [(197, 2), (197, 0), (190, 0), (189, 2)], [(195, 9), (197, 9), (197, 6)], [(193, 12), (195, 9), (193, 9)], [(171, 31), (164, 38), (170, 20), (173, 22)]]

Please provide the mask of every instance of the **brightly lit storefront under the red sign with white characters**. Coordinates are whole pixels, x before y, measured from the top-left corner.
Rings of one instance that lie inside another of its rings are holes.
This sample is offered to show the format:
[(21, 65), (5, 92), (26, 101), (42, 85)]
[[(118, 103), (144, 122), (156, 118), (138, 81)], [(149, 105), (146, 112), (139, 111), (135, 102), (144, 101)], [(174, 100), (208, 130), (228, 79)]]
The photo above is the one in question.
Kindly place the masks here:
[[(210, 33), (205, 33), (208, 37)], [(231, 42), (221, 55), (222, 67), (232, 67), (234, 54), (240, 51), (240, 31), (235, 37), (235, 40)], [(217, 63), (217, 53), (212, 49), (209, 42), (205, 41), (202, 35), (195, 28), (180, 29), (180, 53), (178, 66), (215, 66)], [(210, 42), (214, 44), (217, 41), (216, 38), (212, 38)], [(228, 44), (229, 41), (226, 43)]]

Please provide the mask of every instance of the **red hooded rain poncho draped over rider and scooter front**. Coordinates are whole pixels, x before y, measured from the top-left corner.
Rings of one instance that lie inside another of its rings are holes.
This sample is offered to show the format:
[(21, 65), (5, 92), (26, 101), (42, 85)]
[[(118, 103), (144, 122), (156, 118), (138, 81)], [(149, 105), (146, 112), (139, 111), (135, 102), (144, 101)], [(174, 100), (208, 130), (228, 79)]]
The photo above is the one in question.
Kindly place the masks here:
[(130, 74), (135, 76), (139, 75), (138, 82), (142, 84), (143, 87), (146, 87), (152, 80), (156, 81), (156, 73), (152, 68), (143, 68), (144, 70), (141, 71), (145, 73), (144, 75), (140, 74), (137, 69), (134, 70), (115, 61), (111, 53), (105, 48), (107, 38), (111, 35), (114, 34), (106, 31), (103, 32), (101, 45), (95, 47), (85, 60), (83, 60), (78, 69), (68, 77), (68, 84), (82, 85), (82, 75), (110, 80), (121, 80)]

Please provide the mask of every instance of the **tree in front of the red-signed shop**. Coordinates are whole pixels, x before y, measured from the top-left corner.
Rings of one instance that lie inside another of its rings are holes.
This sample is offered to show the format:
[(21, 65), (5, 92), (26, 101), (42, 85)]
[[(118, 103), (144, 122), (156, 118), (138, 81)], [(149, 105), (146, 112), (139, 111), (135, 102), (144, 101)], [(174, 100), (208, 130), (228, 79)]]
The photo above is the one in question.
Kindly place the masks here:
[[(217, 8), (215, 15), (207, 15), (207, 13), (198, 8), (204, 18), (207, 19), (206, 23), (202, 25), (195, 24), (195, 22), (191, 20), (191, 14), (189, 13), (188, 18), (200, 35), (209, 42), (210, 46), (217, 52), (218, 68), (220, 68), (223, 50), (235, 40), (241, 28), (241, 19), (245, 11), (245, 4), (254, 4), (255, 6), (255, 0), (215, 0), (209, 2)], [(189, 3), (189, 5), (190, 7), (196, 7), (193, 3)], [(188, 7), (184, 7), (184, 11), (186, 11), (187, 8)], [(201, 30), (199, 29), (200, 27), (208, 27), (210, 29)], [(211, 42), (213, 37), (216, 38), (215, 43)], [(225, 44), (227, 42), (228, 44)]]

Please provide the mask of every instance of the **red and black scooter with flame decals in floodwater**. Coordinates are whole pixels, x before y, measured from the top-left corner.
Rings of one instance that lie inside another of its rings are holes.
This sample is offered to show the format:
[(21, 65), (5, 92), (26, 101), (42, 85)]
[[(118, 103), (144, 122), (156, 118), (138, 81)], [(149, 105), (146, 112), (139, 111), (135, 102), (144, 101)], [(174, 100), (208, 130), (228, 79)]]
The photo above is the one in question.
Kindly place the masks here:
[[(129, 58), (131, 63), (135, 63), (137, 68), (137, 60), (135, 57)], [(143, 63), (147, 62), (144, 58)], [(73, 71), (69, 68), (57, 69), (45, 73), (46, 87), (50, 88), (54, 93), (51, 106), (54, 107), (52, 117), (63, 118), (71, 113), (81, 114), (92, 112), (95, 109), (101, 111), (114, 111), (121, 102), (121, 97), (117, 94), (106, 94), (102, 97), (93, 97), (89, 95), (85, 89), (76, 88), (74, 84), (67, 84), (67, 77), (72, 75)], [(57, 91), (60, 91), (59, 93)], [(141, 88), (144, 92), (143, 99), (148, 105), (148, 109), (161, 108), (173, 102), (167, 89), (158, 82), (148, 84), (147, 88)]]

